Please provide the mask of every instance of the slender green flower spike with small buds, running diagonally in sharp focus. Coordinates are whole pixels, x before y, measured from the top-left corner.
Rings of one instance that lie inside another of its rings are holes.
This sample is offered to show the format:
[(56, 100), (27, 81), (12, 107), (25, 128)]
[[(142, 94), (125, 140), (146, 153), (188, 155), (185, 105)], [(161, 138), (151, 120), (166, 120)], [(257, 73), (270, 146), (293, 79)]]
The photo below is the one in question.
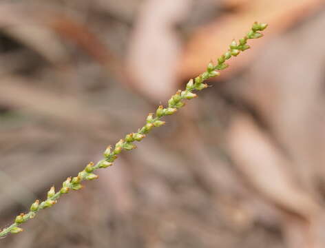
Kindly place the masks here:
[(94, 174), (94, 171), (99, 168), (106, 168), (111, 166), (117, 158), (117, 155), (120, 154), (123, 149), (135, 149), (136, 145), (134, 145), (134, 141), (141, 141), (143, 138), (145, 138), (145, 135), (148, 134), (154, 127), (160, 127), (161, 125), (164, 125), (165, 121), (161, 121), (160, 119), (163, 116), (174, 114), (180, 107), (183, 107), (185, 105), (183, 102), (185, 99), (189, 100), (195, 98), (197, 95), (194, 94), (193, 91), (203, 90), (208, 87), (204, 81), (214, 76), (219, 76), (220, 72), (217, 70), (224, 70), (228, 67), (228, 64), (225, 63), (225, 61), (230, 59), (231, 56), (238, 56), (240, 52), (249, 49), (250, 47), (247, 45), (247, 40), (258, 39), (262, 37), (263, 35), (258, 31), (262, 31), (266, 27), (266, 23), (253, 23), (251, 30), (246, 34), (246, 36), (244, 36), (238, 42), (235, 40), (231, 42), (229, 45), (229, 50), (217, 59), (216, 65), (214, 65), (212, 62), (209, 63), (207, 66), (207, 71), (197, 76), (194, 80), (191, 79), (187, 83), (185, 90), (178, 90), (174, 96), (171, 96), (167, 107), (160, 105), (155, 114), (149, 114), (147, 116), (146, 124), (141, 127), (138, 132), (127, 134), (127, 136), (125, 136), (124, 139), (120, 139), (120, 141), (118, 141), (114, 147), (107, 147), (104, 152), (103, 160), (96, 163), (96, 165), (94, 165), (94, 163), (89, 163), (82, 172), (78, 173), (78, 176), (67, 178), (67, 180), (63, 182), (63, 186), (61, 189), (59, 189), (59, 191), (55, 192), (54, 187), (51, 187), (48, 191), (48, 198), (46, 200), (43, 200), (42, 202), (36, 200), (34, 203), (32, 203), (30, 211), (27, 214), (20, 214), (17, 216), (12, 225), (0, 232), (0, 237), (6, 236), (10, 233), (17, 234), (23, 231), (19, 225), (26, 222), (27, 220), (30, 220), (31, 218), (34, 218), (39, 210), (52, 207), (63, 194), (67, 194), (71, 189), (81, 189), (83, 187), (81, 185), (81, 182), (83, 180), (93, 180), (98, 178), (98, 176)]

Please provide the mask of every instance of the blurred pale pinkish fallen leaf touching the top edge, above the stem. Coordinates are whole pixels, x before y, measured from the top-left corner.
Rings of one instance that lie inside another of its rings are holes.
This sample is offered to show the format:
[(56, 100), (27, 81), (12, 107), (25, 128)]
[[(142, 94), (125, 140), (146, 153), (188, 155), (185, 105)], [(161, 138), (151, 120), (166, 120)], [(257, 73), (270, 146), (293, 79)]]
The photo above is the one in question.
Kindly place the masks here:
[(189, 10), (188, 0), (144, 3), (129, 42), (127, 65), (134, 87), (152, 99), (165, 99), (176, 90), (180, 39), (173, 25)]

